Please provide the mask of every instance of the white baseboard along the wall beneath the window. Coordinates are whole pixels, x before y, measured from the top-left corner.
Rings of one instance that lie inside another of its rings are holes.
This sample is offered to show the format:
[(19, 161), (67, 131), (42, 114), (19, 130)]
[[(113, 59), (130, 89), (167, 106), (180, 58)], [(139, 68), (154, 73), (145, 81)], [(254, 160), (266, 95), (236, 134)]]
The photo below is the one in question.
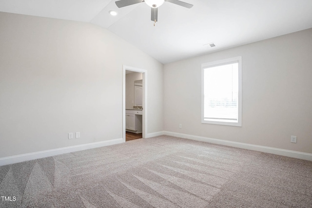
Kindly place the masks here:
[(252, 145), (252, 144), (246, 144), (246, 143), (240, 143), (240, 142), (232, 142), (232, 141), (227, 141), (227, 140), (222, 140), (222, 139), (213, 139), (213, 138), (195, 136), (195, 135), (184, 134), (184, 133), (167, 132), (167, 131), (164, 131), (163, 133), (169, 136), (176, 136), (176, 137), (185, 138), (185, 139), (192, 139), (196, 141), (209, 142), (213, 144), (226, 145), (226, 146), (236, 147), (236, 148), (241, 148), (241, 149), (246, 149), (246, 150), (261, 151), (261, 152), (266, 152), (266, 153), (271, 153), (271, 154), (277, 154), (277, 155), (312, 161), (311, 153), (283, 150), (283, 149), (278, 149), (278, 148)]

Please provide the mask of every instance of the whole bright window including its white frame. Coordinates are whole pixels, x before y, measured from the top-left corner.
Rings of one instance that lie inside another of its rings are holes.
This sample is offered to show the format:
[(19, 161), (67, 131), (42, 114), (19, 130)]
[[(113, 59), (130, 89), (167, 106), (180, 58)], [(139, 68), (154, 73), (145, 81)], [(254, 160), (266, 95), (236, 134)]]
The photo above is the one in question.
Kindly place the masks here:
[(201, 68), (201, 122), (241, 127), (241, 57), (204, 63)]

